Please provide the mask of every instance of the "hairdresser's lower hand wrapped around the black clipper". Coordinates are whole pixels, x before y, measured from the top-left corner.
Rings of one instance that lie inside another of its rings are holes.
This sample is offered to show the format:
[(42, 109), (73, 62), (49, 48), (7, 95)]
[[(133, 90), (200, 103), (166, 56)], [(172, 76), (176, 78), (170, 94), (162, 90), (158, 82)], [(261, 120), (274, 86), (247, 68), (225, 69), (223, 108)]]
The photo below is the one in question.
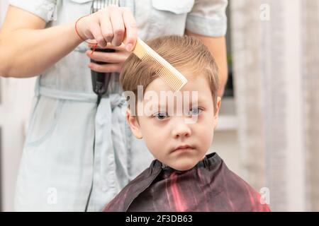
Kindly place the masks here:
[[(92, 41), (94, 42), (94, 41)], [(94, 45), (88, 44), (90, 49), (94, 48)], [(125, 45), (121, 44), (119, 47), (114, 47), (112, 44), (108, 43), (107, 49), (115, 49), (116, 52), (98, 52), (95, 51), (91, 55), (92, 50), (86, 51), (86, 56), (94, 59), (94, 61), (105, 62), (108, 64), (94, 64), (89, 63), (89, 68), (97, 72), (121, 72), (124, 61), (130, 56), (130, 52), (125, 49)], [(99, 49), (99, 47), (97, 47)]]

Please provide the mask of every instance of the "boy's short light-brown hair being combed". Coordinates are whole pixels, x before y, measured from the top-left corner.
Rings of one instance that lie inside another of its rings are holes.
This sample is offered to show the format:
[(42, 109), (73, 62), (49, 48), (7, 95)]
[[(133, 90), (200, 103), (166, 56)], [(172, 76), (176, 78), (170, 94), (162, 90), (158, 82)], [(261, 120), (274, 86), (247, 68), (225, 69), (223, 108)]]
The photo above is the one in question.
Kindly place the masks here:
[[(161, 57), (166, 59), (177, 70), (187, 70), (192, 76), (206, 76), (211, 87), (214, 107), (218, 93), (218, 67), (208, 48), (197, 38), (191, 36), (169, 35), (158, 37), (147, 42)], [(138, 85), (143, 91), (158, 76), (158, 67), (150, 60), (141, 61), (134, 54), (125, 61), (120, 75), (123, 91), (132, 91), (138, 97)], [(185, 76), (185, 75), (184, 75)]]

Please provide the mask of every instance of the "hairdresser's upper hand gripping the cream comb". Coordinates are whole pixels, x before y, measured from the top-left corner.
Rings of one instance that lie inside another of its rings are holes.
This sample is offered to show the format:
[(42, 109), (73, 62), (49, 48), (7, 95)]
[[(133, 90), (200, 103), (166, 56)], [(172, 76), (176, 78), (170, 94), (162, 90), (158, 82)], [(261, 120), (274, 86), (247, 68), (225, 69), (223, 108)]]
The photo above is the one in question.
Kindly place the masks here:
[(108, 42), (118, 47), (126, 37), (125, 48), (128, 51), (132, 51), (138, 36), (130, 9), (118, 6), (108, 6), (81, 18), (77, 22), (77, 31), (85, 40), (96, 40), (100, 47), (106, 47)]

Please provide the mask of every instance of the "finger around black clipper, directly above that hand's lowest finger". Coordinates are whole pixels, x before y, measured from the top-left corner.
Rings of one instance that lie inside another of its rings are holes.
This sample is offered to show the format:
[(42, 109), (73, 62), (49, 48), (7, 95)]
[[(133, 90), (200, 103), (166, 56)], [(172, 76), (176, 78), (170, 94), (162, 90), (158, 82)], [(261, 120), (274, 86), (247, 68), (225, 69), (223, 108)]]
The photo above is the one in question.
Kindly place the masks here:
[(91, 55), (91, 51), (86, 51), (86, 56), (94, 61), (105, 62), (105, 63), (123, 63), (129, 56), (128, 53), (123, 52), (94, 52)]

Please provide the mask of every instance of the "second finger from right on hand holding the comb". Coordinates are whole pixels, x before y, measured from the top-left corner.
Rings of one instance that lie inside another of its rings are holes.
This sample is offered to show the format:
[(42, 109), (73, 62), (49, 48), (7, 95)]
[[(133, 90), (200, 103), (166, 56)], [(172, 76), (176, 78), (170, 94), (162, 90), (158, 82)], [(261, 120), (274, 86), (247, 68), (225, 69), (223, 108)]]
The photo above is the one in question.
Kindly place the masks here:
[(123, 23), (122, 12), (119, 10), (117, 6), (110, 6), (109, 12), (114, 33), (114, 37), (111, 44), (119, 46), (122, 44), (125, 34), (125, 26)]

